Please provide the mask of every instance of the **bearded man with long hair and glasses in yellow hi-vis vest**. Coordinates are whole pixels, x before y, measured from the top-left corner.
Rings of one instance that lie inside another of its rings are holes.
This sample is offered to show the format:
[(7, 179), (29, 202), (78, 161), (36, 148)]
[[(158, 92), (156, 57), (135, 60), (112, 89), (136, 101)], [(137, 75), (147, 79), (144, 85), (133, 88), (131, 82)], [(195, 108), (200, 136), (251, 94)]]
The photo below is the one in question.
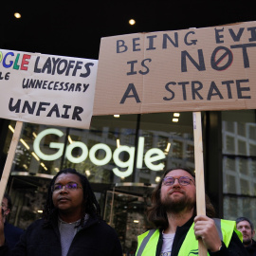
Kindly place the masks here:
[(136, 255), (198, 255), (198, 238), (209, 255), (247, 255), (235, 222), (211, 219), (215, 212), (206, 198), (207, 216), (195, 216), (194, 174), (187, 168), (167, 170), (152, 194), (153, 205), (147, 212), (156, 229), (138, 236)]

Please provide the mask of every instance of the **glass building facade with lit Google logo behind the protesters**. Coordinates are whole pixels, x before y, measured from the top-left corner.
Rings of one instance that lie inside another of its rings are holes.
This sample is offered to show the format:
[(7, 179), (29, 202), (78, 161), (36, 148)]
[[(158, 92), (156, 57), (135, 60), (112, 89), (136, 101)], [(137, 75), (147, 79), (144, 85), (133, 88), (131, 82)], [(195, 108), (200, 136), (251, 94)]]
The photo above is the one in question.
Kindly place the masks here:
[[(15, 121), (0, 119), (0, 172)], [(256, 224), (254, 110), (202, 112), (206, 192), (218, 217)], [(194, 169), (192, 112), (93, 117), (89, 130), (23, 123), (7, 192), (9, 222), (26, 229), (41, 217), (50, 179), (64, 168), (85, 174), (102, 217), (133, 255), (137, 235), (151, 228), (145, 210), (163, 171)]]

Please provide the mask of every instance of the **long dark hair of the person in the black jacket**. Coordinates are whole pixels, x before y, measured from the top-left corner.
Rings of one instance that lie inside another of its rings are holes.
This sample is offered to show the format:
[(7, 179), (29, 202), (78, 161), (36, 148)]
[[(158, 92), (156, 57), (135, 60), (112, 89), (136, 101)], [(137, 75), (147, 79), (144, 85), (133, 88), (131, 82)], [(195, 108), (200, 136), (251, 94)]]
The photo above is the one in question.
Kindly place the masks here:
[(46, 220), (46, 224), (48, 224), (56, 216), (58, 211), (53, 205), (51, 187), (54, 185), (56, 178), (61, 174), (76, 174), (80, 178), (83, 192), (82, 218), (80, 225), (82, 226), (84, 224), (84, 217), (86, 213), (90, 214), (91, 216), (94, 215), (101, 217), (100, 205), (91, 189), (88, 179), (85, 177), (85, 175), (78, 173), (75, 169), (68, 168), (56, 174), (50, 182), (47, 192), (46, 205), (43, 212), (43, 218)]

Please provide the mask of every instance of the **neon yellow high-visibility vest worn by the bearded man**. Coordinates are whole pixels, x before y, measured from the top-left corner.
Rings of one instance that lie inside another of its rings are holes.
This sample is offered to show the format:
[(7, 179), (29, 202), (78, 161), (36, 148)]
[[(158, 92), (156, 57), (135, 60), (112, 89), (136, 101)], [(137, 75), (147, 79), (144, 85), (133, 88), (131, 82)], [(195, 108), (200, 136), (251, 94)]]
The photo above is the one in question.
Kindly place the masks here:
[[(229, 242), (231, 240), (233, 231), (237, 233), (238, 237), (242, 241), (242, 234), (236, 229), (235, 221), (221, 219), (213, 220), (218, 231), (220, 240), (225, 243), (226, 247), (229, 247)], [(198, 255), (198, 241), (195, 239), (193, 226), (194, 223), (189, 229), (185, 240), (180, 247), (178, 253), (179, 256)], [(155, 256), (159, 235), (159, 229), (151, 229), (139, 235), (136, 256)]]

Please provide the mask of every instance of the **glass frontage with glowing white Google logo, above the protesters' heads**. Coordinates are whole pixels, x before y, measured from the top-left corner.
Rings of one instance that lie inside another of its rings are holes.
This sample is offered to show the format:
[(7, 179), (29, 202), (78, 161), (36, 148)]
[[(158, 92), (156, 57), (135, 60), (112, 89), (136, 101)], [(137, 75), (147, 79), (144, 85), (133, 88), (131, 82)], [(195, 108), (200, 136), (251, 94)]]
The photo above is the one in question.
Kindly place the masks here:
[(165, 168), (194, 166), (192, 113), (175, 115), (93, 117), (89, 130), (24, 123), (11, 174), (74, 168), (93, 183), (155, 183)]

